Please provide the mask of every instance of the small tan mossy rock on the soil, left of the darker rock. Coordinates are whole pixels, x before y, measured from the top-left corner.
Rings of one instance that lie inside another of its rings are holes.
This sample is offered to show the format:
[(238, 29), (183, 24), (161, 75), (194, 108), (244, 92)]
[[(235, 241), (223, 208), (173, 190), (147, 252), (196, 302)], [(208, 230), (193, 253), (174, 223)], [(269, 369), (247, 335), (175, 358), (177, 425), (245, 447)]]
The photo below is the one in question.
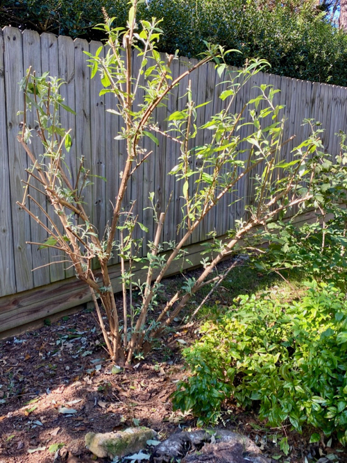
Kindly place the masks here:
[(153, 429), (143, 426), (103, 434), (88, 432), (85, 435), (85, 446), (100, 458), (124, 457), (140, 451), (146, 446), (146, 441), (155, 436), (156, 432)]

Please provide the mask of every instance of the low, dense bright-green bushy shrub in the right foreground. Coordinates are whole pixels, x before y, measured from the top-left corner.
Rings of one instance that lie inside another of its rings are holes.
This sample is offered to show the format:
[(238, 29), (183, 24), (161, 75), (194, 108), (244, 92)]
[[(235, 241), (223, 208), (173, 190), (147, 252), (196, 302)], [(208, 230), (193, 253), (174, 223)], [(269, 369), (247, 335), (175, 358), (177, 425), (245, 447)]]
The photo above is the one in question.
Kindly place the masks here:
[(178, 383), (174, 406), (201, 423), (216, 421), (221, 405), (259, 406), (260, 419), (287, 419), (347, 443), (347, 302), (333, 285), (313, 282), (300, 302), (281, 304), (239, 296), (239, 303), (184, 351), (191, 375)]

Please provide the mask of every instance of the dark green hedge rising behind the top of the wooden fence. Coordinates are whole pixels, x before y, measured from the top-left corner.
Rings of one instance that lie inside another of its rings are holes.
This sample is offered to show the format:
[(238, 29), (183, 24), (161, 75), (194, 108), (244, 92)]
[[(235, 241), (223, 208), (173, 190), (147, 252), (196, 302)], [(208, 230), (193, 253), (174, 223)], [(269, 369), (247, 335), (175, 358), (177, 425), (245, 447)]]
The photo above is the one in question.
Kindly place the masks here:
[[(179, 49), (183, 56), (196, 57), (207, 40), (242, 51), (230, 55), (232, 65), (257, 56), (269, 60), (274, 74), (347, 86), (347, 35), (325, 21), (312, 3), (301, 10), (288, 3), (148, 0), (140, 6), (139, 19), (163, 18), (162, 51)], [(0, 0), (0, 25), (96, 40), (102, 38), (93, 30), (103, 21), (102, 6), (117, 17), (117, 25), (125, 24), (126, 0)]]

